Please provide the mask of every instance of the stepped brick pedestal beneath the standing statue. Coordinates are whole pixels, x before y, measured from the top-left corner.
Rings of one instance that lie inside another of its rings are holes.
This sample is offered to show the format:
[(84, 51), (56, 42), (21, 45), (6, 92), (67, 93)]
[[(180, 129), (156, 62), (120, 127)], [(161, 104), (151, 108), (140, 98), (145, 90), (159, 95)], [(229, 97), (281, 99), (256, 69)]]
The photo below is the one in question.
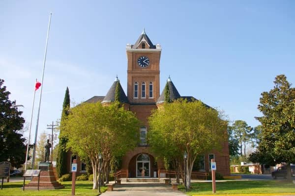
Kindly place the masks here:
[[(40, 182), (39, 189), (64, 189), (64, 186), (61, 185), (53, 172), (53, 167), (51, 163), (39, 163), (40, 172)], [(32, 177), (32, 180), (29, 184), (25, 185), (26, 189), (37, 189), (38, 188), (38, 177)]]

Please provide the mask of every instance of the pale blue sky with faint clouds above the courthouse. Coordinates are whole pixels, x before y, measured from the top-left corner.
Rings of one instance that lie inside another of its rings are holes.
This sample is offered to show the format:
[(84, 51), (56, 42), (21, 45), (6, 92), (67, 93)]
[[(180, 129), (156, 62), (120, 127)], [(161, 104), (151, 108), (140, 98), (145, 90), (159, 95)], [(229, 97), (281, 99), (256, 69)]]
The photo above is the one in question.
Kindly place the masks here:
[(294, 10), (294, 0), (1, 0), (0, 78), (29, 123), (52, 12), (38, 129), (49, 132), (67, 86), (80, 103), (105, 96), (118, 74), (126, 93), (125, 46), (145, 27), (162, 46), (161, 92), (171, 75), (181, 96), (256, 126), (260, 94), (275, 76), (295, 83)]

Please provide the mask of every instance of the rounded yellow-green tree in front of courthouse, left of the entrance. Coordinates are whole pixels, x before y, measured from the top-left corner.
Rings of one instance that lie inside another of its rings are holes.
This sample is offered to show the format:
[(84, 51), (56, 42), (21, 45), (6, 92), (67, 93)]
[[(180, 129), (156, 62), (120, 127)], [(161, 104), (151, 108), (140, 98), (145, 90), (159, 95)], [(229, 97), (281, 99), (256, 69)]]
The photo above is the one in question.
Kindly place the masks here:
[[(138, 119), (118, 104), (105, 107), (100, 103), (82, 103), (71, 108), (61, 123), (62, 137), (68, 138), (67, 149), (83, 160), (90, 159), (93, 189), (98, 187), (99, 168), (106, 176), (111, 159), (123, 156), (139, 143)], [(101, 165), (99, 153), (103, 158)]]

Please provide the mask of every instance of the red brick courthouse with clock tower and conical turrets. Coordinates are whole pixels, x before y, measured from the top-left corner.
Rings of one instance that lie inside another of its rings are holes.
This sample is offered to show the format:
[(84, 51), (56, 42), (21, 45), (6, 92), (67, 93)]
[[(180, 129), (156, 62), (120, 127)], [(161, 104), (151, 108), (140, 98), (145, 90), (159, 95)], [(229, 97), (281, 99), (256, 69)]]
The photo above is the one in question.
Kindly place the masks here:
[[(160, 57), (161, 46), (153, 45), (148, 38), (145, 30), (142, 32), (134, 45), (126, 45), (127, 54), (127, 96), (120, 88), (120, 101), (124, 103), (125, 108), (134, 112), (137, 118), (142, 122), (140, 128), (141, 143), (134, 150), (126, 153), (122, 159), (122, 169), (128, 169), (129, 177), (157, 177), (154, 172), (163, 169), (163, 161), (155, 160), (155, 155), (149, 151), (147, 144), (148, 117), (151, 110), (164, 102), (164, 90), (160, 94)], [(114, 81), (106, 96), (94, 96), (87, 102), (100, 101), (103, 105), (108, 105), (115, 100), (115, 89), (118, 77)], [(170, 90), (170, 99), (193, 97), (182, 97), (177, 88), (171, 81), (167, 80)], [(165, 86), (165, 84), (163, 84)], [(78, 173), (86, 172), (85, 163), (81, 163), (79, 157), (68, 154), (68, 170), (70, 171), (70, 161), (78, 158)], [(221, 152), (212, 151), (204, 154), (202, 160), (198, 163), (200, 171), (209, 172), (209, 161), (215, 158), (217, 171), (222, 175), (230, 175), (230, 160), (228, 142), (224, 142)], [(145, 169), (143, 173), (142, 170)]]

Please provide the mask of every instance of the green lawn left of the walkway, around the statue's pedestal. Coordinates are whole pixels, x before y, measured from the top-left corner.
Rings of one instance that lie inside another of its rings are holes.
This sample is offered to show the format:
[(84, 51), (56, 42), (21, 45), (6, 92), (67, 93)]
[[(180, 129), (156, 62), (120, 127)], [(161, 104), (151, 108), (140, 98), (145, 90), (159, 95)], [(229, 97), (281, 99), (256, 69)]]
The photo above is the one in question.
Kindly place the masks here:
[[(26, 181), (29, 183), (29, 181)], [(26, 190), (23, 191), (23, 182), (3, 183), (3, 189), (0, 190), (0, 196), (71, 196), (72, 181), (61, 182), (65, 187), (59, 190)], [(101, 187), (105, 192), (107, 187)], [(76, 181), (75, 196), (98, 196), (98, 190), (92, 190), (92, 181)]]

